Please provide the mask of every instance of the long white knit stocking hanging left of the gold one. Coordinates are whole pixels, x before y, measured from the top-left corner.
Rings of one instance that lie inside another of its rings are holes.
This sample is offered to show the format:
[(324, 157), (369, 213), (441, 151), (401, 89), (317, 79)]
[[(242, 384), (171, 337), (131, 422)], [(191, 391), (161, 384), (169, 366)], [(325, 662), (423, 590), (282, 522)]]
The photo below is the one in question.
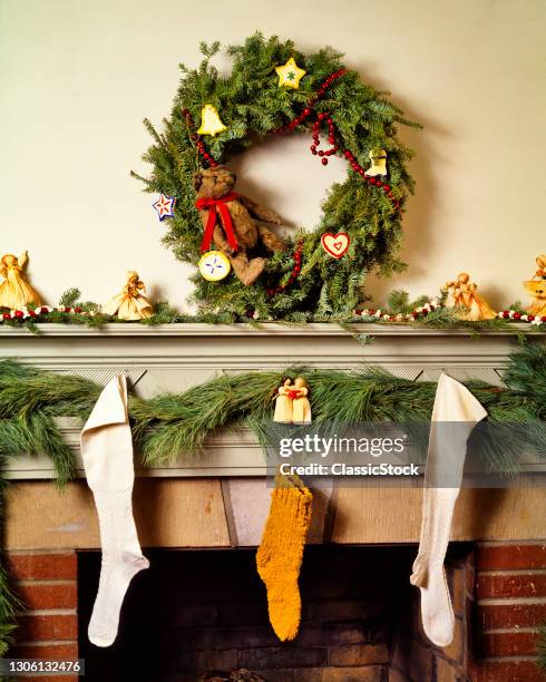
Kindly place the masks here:
[(125, 377), (115, 377), (100, 393), (84, 430), (81, 455), (97, 507), (103, 562), (88, 635), (97, 646), (114, 643), (119, 612), (133, 577), (149, 566), (133, 518), (133, 440)]

